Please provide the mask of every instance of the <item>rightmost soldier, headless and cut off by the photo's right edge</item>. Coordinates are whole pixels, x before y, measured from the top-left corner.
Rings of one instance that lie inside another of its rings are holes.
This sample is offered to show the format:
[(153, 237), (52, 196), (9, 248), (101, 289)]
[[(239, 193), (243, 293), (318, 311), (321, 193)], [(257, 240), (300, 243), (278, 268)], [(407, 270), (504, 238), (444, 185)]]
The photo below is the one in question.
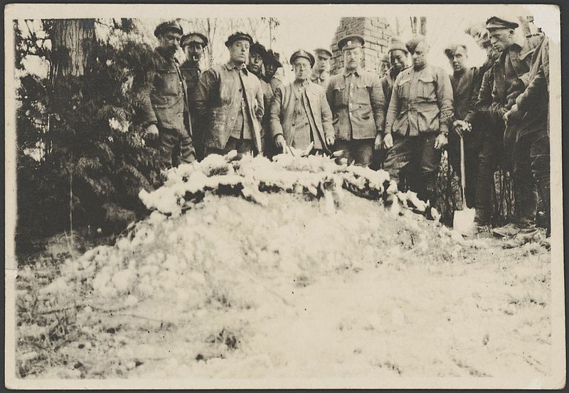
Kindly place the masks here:
[[(528, 87), (504, 116), (514, 134), (514, 183), (526, 183), (528, 178), (533, 178), (546, 212), (547, 237), (551, 235), (548, 45), (548, 39), (543, 37), (531, 59)], [(519, 226), (519, 242), (526, 242), (535, 235), (529, 214)]]

